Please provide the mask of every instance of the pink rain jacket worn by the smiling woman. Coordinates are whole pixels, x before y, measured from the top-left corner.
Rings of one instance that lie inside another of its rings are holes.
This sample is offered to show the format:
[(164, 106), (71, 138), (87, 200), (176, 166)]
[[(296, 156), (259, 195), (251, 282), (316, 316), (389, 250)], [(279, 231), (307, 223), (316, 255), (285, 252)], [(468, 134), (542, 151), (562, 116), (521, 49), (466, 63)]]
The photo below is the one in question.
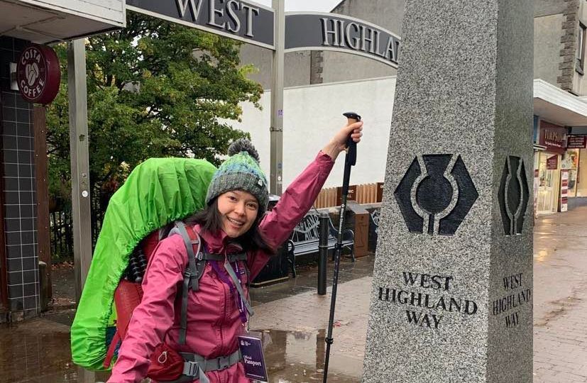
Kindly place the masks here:
[[(259, 229), (271, 246), (277, 248), (283, 243), (312, 207), (333, 165), (331, 157), (320, 152), (285, 190), (273, 210), (265, 215)], [(200, 233), (199, 226), (194, 226), (194, 230)], [(241, 250), (229, 243), (230, 238), (224, 231), (200, 235), (209, 252), (229, 254)], [(251, 279), (263, 269), (269, 257), (260, 250), (248, 253), (246, 262)], [(236, 335), (243, 330), (234, 296), (238, 293), (236, 289), (234, 294), (231, 293), (230, 287), (212, 269), (211, 262), (206, 262), (204, 274), (199, 279), (199, 290), (190, 290), (186, 342), (183, 346), (178, 344), (181, 299), (176, 297), (187, 262), (187, 251), (180, 235), (171, 235), (158, 244), (143, 281), (143, 300), (133, 311), (108, 382), (141, 382), (147, 374), (150, 354), (162, 340), (177, 351), (196, 353), (206, 359), (231, 355), (238, 349)], [(243, 270), (243, 265), (238, 268)], [(246, 275), (241, 277), (243, 289), (248, 294)], [(211, 383), (250, 382), (244, 375), (242, 362), (226, 370), (207, 372), (207, 377)]]

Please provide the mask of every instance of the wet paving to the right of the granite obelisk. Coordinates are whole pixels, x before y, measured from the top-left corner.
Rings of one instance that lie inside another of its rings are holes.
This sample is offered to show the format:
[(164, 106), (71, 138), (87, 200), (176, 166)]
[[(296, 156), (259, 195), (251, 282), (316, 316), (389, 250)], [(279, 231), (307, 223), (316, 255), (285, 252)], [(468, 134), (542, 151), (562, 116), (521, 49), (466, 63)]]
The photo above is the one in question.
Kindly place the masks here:
[(587, 206), (534, 226), (534, 383), (587, 382)]

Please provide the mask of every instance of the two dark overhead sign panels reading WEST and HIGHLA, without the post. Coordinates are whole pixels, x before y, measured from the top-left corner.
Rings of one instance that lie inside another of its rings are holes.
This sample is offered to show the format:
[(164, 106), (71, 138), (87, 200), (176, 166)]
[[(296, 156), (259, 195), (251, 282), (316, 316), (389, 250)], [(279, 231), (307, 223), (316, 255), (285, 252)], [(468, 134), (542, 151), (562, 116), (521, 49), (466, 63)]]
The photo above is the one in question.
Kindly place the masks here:
[[(275, 50), (275, 11), (241, 0), (126, 0), (126, 9)], [(400, 38), (336, 13), (285, 13), (285, 52), (336, 50), (397, 67)]]

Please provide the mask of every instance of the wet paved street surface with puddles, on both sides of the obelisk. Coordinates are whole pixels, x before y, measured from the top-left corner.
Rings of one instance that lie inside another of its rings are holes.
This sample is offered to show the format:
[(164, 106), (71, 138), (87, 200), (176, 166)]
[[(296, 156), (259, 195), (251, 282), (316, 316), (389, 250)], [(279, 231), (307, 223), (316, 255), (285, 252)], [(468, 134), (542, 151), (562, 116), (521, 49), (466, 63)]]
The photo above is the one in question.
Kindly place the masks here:
[[(329, 284), (331, 267), (329, 262)], [(373, 255), (341, 264), (329, 382), (361, 381)], [(271, 383), (322, 382), (330, 297), (317, 295), (317, 267), (252, 290)], [(71, 271), (53, 274), (57, 309), (0, 327), (0, 382), (104, 382), (72, 365)], [(328, 289), (330, 293), (330, 289)], [(587, 383), (587, 206), (544, 216), (534, 228), (534, 383)]]

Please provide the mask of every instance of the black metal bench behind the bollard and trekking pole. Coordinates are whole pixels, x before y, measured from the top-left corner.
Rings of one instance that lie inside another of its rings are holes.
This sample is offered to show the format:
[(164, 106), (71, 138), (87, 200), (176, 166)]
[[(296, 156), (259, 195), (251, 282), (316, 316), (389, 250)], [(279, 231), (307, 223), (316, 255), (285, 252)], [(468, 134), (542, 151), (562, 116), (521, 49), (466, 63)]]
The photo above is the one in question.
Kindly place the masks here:
[[(295, 278), (295, 257), (299, 255), (318, 253), (318, 245), (320, 242), (320, 214), (317, 211), (309, 211), (302, 221), (295, 226), (292, 231), (290, 239), (287, 240), (287, 260), (290, 262), (292, 267), (292, 275)], [(339, 233), (330, 217), (328, 218), (328, 248), (334, 249), (336, 245), (337, 235)], [(354, 250), (354, 233), (350, 229), (343, 231), (342, 235), (342, 246), (351, 250), (351, 257), (353, 262), (355, 261), (355, 250)]]

